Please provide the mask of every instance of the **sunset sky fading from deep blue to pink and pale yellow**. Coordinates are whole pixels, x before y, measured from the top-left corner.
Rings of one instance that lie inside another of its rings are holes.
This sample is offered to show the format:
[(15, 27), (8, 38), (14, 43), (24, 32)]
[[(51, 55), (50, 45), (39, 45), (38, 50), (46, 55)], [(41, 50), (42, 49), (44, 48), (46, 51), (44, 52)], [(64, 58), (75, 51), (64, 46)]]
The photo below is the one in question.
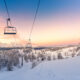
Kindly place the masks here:
[[(17, 35), (4, 35), (7, 13), (0, 0), (0, 43), (26, 44), (38, 0), (6, 0)], [(54, 46), (80, 42), (80, 0), (41, 0), (33, 28), (33, 45)], [(14, 39), (16, 38), (16, 40)]]

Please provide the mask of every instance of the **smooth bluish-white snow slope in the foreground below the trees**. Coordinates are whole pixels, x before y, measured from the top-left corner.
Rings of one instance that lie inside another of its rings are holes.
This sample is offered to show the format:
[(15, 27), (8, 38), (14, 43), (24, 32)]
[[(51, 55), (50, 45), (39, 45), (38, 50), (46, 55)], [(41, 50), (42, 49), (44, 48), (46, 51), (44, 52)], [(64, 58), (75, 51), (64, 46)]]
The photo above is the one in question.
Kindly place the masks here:
[(23, 68), (0, 72), (0, 80), (80, 80), (80, 57), (44, 61), (31, 69), (31, 63)]

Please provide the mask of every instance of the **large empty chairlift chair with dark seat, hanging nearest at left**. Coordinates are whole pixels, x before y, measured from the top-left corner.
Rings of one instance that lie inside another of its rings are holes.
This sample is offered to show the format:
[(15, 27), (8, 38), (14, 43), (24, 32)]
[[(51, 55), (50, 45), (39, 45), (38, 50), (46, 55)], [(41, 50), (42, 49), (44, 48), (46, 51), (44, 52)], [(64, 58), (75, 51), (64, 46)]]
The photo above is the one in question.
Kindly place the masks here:
[(7, 27), (4, 29), (4, 34), (15, 35), (17, 33), (16, 27), (9, 26), (10, 18), (7, 19)]

